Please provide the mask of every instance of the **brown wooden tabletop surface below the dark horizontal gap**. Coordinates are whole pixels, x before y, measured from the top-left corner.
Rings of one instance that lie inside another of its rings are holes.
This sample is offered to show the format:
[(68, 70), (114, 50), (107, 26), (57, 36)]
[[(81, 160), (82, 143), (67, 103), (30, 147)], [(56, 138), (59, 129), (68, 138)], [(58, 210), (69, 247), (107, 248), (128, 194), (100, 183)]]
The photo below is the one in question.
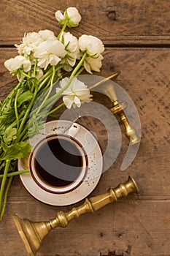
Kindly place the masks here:
[[(0, 49), (1, 99), (14, 83), (3, 62), (15, 54), (14, 49)], [(102, 70), (95, 75), (107, 77), (117, 70), (122, 71), (117, 83), (128, 92), (139, 112), (142, 142), (134, 162), (121, 171), (128, 139), (120, 126), (123, 138), (120, 153), (91, 196), (117, 186), (128, 174), (139, 184), (139, 195), (130, 195), (95, 214), (73, 220), (66, 229), (53, 230), (43, 241), (37, 256), (169, 256), (169, 67), (169, 48), (106, 48)], [(95, 99), (110, 107), (102, 94)], [(107, 131), (100, 122), (84, 118), (82, 124), (95, 132), (98, 127), (98, 142), (102, 148), (107, 146)], [(0, 223), (1, 256), (27, 255), (12, 214), (39, 221), (52, 219), (57, 211), (70, 208), (72, 206), (53, 207), (37, 201), (16, 177), (9, 192), (7, 212)]]

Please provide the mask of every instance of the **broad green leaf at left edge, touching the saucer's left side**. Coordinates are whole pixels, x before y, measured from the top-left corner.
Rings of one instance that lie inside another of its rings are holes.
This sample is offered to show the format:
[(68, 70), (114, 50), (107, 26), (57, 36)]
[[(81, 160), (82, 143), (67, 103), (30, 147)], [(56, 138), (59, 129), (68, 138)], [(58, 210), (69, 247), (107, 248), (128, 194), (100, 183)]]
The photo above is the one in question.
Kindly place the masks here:
[(11, 146), (6, 146), (4, 154), (0, 157), (0, 160), (12, 160), (28, 157), (31, 152), (31, 145), (26, 141), (14, 143)]

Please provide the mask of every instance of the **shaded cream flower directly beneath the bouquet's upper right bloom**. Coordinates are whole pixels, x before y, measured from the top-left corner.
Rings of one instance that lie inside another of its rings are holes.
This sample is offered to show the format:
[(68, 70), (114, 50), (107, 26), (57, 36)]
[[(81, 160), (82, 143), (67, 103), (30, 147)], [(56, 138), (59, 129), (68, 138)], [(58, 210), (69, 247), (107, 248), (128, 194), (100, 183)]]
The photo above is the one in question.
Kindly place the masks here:
[(95, 59), (91, 57), (86, 57), (84, 61), (85, 70), (90, 74), (92, 74), (91, 70), (99, 72), (102, 65), (102, 59), (104, 59), (104, 57), (101, 54), (99, 54), (98, 58)]

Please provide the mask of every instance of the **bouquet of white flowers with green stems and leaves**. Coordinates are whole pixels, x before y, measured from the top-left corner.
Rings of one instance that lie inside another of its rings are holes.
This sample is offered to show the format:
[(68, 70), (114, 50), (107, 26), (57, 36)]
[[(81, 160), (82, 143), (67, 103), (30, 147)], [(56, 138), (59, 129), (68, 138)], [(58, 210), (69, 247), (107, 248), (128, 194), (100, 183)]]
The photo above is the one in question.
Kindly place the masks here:
[[(28, 171), (16, 170), (17, 160), (27, 157), (31, 151), (28, 136), (38, 132), (43, 117), (61, 106), (79, 108), (83, 102), (90, 102), (88, 87), (76, 77), (83, 69), (91, 74), (101, 68), (104, 45), (100, 39), (85, 34), (77, 39), (64, 32), (66, 27), (79, 25), (81, 16), (77, 9), (69, 7), (63, 14), (58, 10), (55, 18), (62, 26), (58, 37), (49, 30), (24, 34), (21, 44), (15, 45), (19, 55), (4, 63), (19, 82), (0, 105), (0, 219), (4, 215), (12, 178)], [(51, 95), (58, 80), (59, 87)], [(63, 103), (52, 108), (61, 95)]]

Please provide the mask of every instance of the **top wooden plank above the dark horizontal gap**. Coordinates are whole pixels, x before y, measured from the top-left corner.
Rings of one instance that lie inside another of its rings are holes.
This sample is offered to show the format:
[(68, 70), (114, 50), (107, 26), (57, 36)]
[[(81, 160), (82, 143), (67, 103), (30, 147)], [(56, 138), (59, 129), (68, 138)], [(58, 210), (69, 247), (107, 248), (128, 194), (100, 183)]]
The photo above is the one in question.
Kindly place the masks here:
[(105, 44), (169, 44), (169, 0), (37, 1), (1, 0), (0, 44), (19, 43), (25, 32), (50, 29), (58, 34), (56, 10), (75, 6), (82, 23), (72, 33), (93, 34)]

